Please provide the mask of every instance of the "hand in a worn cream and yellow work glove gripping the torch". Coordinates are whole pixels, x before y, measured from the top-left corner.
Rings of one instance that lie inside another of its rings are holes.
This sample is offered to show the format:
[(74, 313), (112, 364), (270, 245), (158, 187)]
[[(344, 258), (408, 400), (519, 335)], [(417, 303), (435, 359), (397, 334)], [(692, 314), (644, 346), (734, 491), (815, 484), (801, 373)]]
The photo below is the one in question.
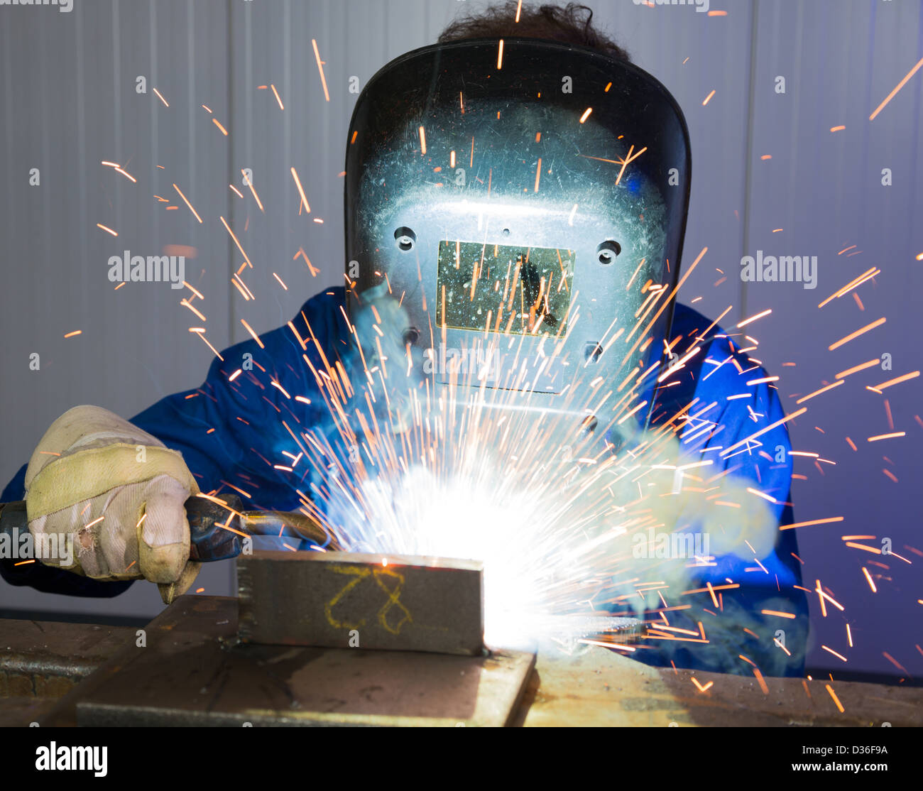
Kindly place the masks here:
[(60, 557), (44, 564), (94, 580), (157, 582), (165, 604), (195, 581), (201, 564), (189, 560), (184, 503), (198, 485), (179, 452), (117, 414), (97, 406), (62, 414), (32, 454), (25, 483), (32, 536), (72, 542), (69, 565)]

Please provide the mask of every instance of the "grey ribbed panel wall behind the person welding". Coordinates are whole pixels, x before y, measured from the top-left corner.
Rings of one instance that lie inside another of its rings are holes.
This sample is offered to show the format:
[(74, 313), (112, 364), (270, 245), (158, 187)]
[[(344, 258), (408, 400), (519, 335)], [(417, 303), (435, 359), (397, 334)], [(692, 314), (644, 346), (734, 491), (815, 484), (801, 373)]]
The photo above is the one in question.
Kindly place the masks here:
[[(241, 318), (257, 331), (270, 330), (308, 295), (342, 282), (340, 172), (355, 101), (349, 78), (364, 85), (390, 58), (432, 42), (457, 13), (483, 5), (74, 0), (71, 13), (0, 6), (0, 478), (16, 472), (47, 425), (72, 405), (95, 403), (130, 416), (163, 395), (196, 386), (212, 355), (189, 327), (206, 327), (206, 337), (221, 349), (246, 337)], [(796, 473), (805, 479), (796, 481), (793, 497), (797, 521), (846, 517), (799, 532), (806, 584), (813, 588), (821, 580), (845, 606), (844, 615), (823, 618), (812, 605), (809, 663), (834, 672), (896, 674), (887, 652), (918, 675), (923, 557), (908, 547), (923, 548), (921, 467), (913, 451), (923, 438), (917, 417), (923, 380), (883, 396), (865, 386), (919, 366), (923, 71), (875, 120), (869, 114), (923, 55), (921, 4), (712, 0), (713, 12), (726, 12), (715, 16), (693, 6), (646, 7), (632, 0), (592, 5), (596, 20), (635, 62), (673, 92), (689, 122), (687, 266), (703, 246), (709, 252), (683, 299), (696, 300), (711, 316), (733, 306), (725, 326), (773, 308), (749, 331), (761, 342), (753, 354), (782, 377), (779, 389), (789, 409), (837, 371), (892, 354), (893, 372), (872, 369), (847, 378), (834, 393), (810, 401), (809, 413), (791, 425), (795, 449), (836, 462), (797, 460)], [(312, 39), (326, 62), (329, 102)], [(774, 90), (780, 75), (784, 94)], [(136, 92), (138, 76), (147, 78), (147, 93)], [(258, 89), (270, 83), (284, 111), (270, 90)], [(845, 130), (830, 131), (840, 125)], [(122, 163), (138, 183), (103, 167), (103, 160)], [(305, 185), (310, 218), (298, 216), (292, 165)], [(31, 168), (40, 169), (41, 186), (29, 185)], [(243, 186), (241, 168), (252, 169), (265, 214)], [(881, 185), (882, 168), (892, 169), (893, 186)], [(203, 223), (175, 194), (174, 183)], [(234, 195), (230, 183), (245, 197)], [(171, 203), (158, 202), (155, 194)], [(239, 234), (246, 228), (242, 238), (255, 269), (243, 277), (253, 301), (230, 283), (243, 259), (221, 216)], [(119, 237), (103, 233), (97, 222)], [(185, 291), (138, 283), (116, 292), (106, 279), (110, 256), (124, 249), (154, 255), (166, 245), (197, 250), (187, 261), (186, 280), (204, 294), (196, 303), (207, 316), (204, 324), (179, 305)], [(302, 258), (293, 260), (299, 247), (319, 270), (316, 276)], [(758, 249), (818, 256), (817, 289), (741, 282), (741, 256)], [(864, 309), (849, 294), (818, 308), (872, 266), (881, 275), (858, 290)], [(887, 317), (883, 327), (827, 351), (847, 332), (881, 317)], [(72, 330), (82, 334), (65, 339)], [(33, 352), (41, 354), (40, 371), (29, 369)], [(893, 430), (907, 436), (869, 444), (867, 437), (892, 430), (885, 401)], [(843, 534), (874, 535), (866, 543), (875, 545), (890, 537), (893, 551), (914, 565), (849, 549)], [(862, 566), (881, 575), (878, 593), (869, 590)], [(233, 569), (216, 564), (198, 585), (206, 593), (230, 593)], [(0, 606), (150, 616), (162, 605), (147, 584), (111, 601), (88, 602), (0, 583)], [(849, 664), (822, 644), (848, 654)]]

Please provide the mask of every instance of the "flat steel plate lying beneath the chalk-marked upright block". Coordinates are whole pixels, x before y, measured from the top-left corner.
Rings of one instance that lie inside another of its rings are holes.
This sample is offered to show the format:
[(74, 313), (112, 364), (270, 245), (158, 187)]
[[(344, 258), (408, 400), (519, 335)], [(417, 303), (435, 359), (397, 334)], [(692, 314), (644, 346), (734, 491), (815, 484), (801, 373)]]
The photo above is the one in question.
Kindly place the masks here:
[(236, 640), (237, 602), (180, 596), (41, 725), (508, 725), (534, 654)]

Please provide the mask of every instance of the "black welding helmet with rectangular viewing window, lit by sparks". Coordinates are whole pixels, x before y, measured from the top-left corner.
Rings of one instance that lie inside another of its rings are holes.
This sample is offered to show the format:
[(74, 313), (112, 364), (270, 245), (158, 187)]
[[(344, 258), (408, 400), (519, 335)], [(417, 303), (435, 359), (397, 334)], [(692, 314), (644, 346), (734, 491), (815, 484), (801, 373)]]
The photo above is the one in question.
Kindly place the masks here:
[(414, 50), (349, 130), (350, 310), (398, 300), (437, 383), (586, 412), (575, 378), (627, 380), (623, 396), (661, 362), (689, 175), (683, 114), (637, 66), (536, 39)]

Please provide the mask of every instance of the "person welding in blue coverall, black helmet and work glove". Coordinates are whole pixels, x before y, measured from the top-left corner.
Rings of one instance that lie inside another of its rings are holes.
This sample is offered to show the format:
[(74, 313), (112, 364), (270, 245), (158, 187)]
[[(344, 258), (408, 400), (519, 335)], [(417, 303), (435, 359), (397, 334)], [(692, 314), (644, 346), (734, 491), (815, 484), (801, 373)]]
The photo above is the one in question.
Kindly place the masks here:
[[(544, 325), (565, 353), (612, 381), (620, 370), (668, 365), (674, 349), (698, 342), (701, 353), (677, 371), (673, 386), (646, 378), (637, 398), (647, 408), (634, 419), (661, 425), (694, 403), (689, 452), (708, 454), (717, 465), (710, 474), (751, 482), (775, 521), (792, 523), (785, 425), (743, 441), (785, 416), (777, 391), (734, 337), (688, 306), (667, 306), (666, 292), (655, 294), (658, 287), (673, 292), (678, 282), (691, 176), (685, 120), (665, 88), (593, 28), (592, 16), (574, 4), (509, 2), (462, 18), (438, 44), (379, 71), (356, 104), (347, 145), (348, 287), (312, 297), (259, 342), (223, 351), (199, 388), (131, 421), (91, 406), (54, 421), (3, 500), (25, 492), (30, 530), (72, 535), (76, 563), (2, 561), (6, 581), (113, 596), (143, 578), (173, 596), (198, 571), (188, 557), (184, 502), (191, 494), (230, 486), (251, 507), (297, 509), (299, 476), (270, 461), (292, 449), (280, 413), (303, 426), (329, 421), (303, 356), (315, 369), (346, 356), (354, 343), (349, 317), (383, 289), (401, 297), (400, 344), (430, 362), (445, 354), (434, 339), (462, 348), (466, 337), (485, 332), (515, 336), (525, 357), (530, 344), (541, 356), (536, 330)], [(472, 270), (460, 266), (473, 258), (475, 273), (485, 260), (515, 261), (521, 280), (509, 304), (517, 296), (537, 309), (501, 318), (494, 281), (473, 283)], [(453, 301), (462, 289), (468, 301)], [(600, 341), (616, 318), (629, 333), (640, 314), (649, 342), (629, 345), (624, 359), (602, 354)], [(241, 375), (247, 358), (255, 366)], [(566, 375), (541, 372), (530, 379), (533, 401), (567, 413)], [(437, 366), (434, 376), (444, 374)], [(503, 376), (500, 365), (495, 378)], [(293, 401), (288, 393), (306, 397)], [(710, 452), (737, 446), (733, 454)], [(800, 675), (807, 600), (799, 563), (792, 530), (778, 531), (764, 557), (713, 558), (696, 569), (696, 582), (711, 594), (670, 611), (670, 623), (689, 634), (703, 619), (714, 624), (709, 641), (652, 641), (633, 655), (738, 673), (749, 672), (746, 656), (764, 675)], [(719, 625), (719, 608), (733, 626)], [(763, 611), (783, 608), (795, 617), (779, 635)]]

